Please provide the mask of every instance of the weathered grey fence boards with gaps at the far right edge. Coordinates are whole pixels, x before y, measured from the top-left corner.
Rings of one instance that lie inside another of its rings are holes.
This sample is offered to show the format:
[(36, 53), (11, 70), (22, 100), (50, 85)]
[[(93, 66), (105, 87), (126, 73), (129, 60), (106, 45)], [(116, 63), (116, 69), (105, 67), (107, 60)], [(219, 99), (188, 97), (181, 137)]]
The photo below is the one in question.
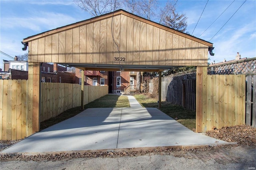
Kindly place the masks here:
[(256, 75), (246, 76), (246, 125), (256, 127)]

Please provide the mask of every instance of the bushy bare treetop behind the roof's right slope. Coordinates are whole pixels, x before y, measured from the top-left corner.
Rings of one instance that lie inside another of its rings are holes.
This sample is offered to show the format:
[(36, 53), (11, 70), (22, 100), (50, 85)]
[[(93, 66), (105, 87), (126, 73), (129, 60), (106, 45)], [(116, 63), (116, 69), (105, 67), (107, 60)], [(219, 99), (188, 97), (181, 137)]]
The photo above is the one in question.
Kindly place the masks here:
[(175, 10), (172, 10), (170, 15), (166, 16), (163, 24), (181, 32), (185, 32), (188, 26), (185, 14), (179, 15)]

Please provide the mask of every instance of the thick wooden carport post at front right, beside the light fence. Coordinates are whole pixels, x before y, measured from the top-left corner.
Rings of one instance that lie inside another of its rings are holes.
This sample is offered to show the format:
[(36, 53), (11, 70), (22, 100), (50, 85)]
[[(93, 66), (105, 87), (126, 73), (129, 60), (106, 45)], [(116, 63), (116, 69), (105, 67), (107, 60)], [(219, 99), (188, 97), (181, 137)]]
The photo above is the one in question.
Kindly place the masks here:
[(196, 67), (196, 132), (203, 131), (203, 114), (206, 114), (207, 67)]

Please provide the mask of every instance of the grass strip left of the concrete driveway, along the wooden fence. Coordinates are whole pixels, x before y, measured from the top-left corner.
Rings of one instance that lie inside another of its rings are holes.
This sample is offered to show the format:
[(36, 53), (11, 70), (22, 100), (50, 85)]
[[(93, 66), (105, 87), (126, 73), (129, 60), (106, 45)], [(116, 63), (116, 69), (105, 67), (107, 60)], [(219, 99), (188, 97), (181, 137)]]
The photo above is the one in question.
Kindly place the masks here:
[[(118, 96), (118, 95), (105, 95), (103, 97), (100, 97), (99, 99), (96, 99), (87, 105), (84, 105), (84, 109), (88, 108), (105, 108), (105, 107), (130, 107), (130, 103), (128, 100), (128, 97), (126, 96)], [(66, 119), (69, 119), (78, 113), (81, 113), (82, 110), (81, 107), (74, 107), (72, 109), (68, 109), (64, 111), (63, 113), (60, 113), (60, 115), (56, 117), (52, 117), (48, 120), (45, 120), (40, 123), (40, 130), (43, 130), (45, 128), (48, 128), (52, 125), (55, 125), (57, 123), (60, 123), (62, 121), (65, 121)]]

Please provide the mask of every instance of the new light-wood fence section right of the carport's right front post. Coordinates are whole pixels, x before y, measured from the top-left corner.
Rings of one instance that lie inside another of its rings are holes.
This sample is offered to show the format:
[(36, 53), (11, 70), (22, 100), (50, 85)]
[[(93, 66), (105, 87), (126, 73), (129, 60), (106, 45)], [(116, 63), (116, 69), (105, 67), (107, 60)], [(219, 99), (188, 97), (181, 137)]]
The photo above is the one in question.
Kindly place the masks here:
[(245, 75), (207, 75), (203, 89), (203, 132), (245, 124)]

